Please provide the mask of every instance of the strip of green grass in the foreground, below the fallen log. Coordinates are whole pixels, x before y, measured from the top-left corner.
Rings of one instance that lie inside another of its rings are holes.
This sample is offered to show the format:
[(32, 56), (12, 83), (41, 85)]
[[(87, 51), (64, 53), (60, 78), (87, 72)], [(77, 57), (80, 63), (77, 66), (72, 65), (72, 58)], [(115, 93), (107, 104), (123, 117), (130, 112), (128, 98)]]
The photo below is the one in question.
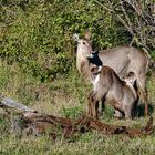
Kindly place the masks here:
[(23, 136), (18, 138), (14, 135), (6, 135), (0, 141), (0, 152), (3, 155), (21, 154), (89, 154), (89, 155), (144, 155), (154, 154), (154, 137), (127, 138), (124, 136), (105, 136), (99, 133), (87, 133), (75, 142), (60, 137), (52, 142), (45, 136)]

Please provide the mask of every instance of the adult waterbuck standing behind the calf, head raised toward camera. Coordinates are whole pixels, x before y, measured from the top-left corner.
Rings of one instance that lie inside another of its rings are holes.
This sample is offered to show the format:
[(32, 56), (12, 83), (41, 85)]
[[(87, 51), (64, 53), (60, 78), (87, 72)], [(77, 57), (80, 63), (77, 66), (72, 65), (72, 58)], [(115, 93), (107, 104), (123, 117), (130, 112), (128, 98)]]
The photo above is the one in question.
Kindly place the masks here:
[[(93, 52), (90, 33), (85, 33), (84, 39), (80, 39), (78, 34), (74, 34), (73, 39), (78, 42), (76, 68), (86, 81), (87, 79), (89, 81), (92, 81), (87, 60), (87, 56)], [(116, 46), (100, 51), (99, 56), (104, 62), (104, 65), (114, 70), (120, 79), (123, 79), (131, 72), (134, 73), (140, 92), (140, 99), (145, 103), (145, 115), (148, 115), (147, 94), (145, 87), (145, 73), (148, 65), (148, 58), (146, 54), (133, 46)]]

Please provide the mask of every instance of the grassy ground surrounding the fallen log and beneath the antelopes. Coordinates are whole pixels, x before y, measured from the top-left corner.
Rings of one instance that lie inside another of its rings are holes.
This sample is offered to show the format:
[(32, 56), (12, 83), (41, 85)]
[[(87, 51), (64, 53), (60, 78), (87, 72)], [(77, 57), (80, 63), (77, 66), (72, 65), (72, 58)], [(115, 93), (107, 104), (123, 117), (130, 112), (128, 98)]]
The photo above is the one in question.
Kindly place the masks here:
[[(147, 80), (151, 114), (155, 117), (155, 76)], [(78, 117), (86, 110), (87, 89), (78, 73), (60, 78), (56, 81), (40, 83), (38, 79), (29, 76), (17, 65), (8, 66), (0, 63), (0, 91), (3, 95), (16, 99), (39, 112), (60, 116)], [(74, 140), (60, 136), (55, 142), (46, 136), (19, 136), (10, 131), (10, 122), (0, 111), (0, 154), (2, 155), (51, 155), (51, 154), (86, 154), (86, 155), (154, 155), (155, 134), (148, 137), (128, 138), (123, 135), (106, 136), (91, 132)], [(12, 116), (13, 117), (13, 116)], [(110, 124), (145, 126), (148, 117), (134, 120), (113, 118), (113, 108), (107, 106), (102, 122)]]

